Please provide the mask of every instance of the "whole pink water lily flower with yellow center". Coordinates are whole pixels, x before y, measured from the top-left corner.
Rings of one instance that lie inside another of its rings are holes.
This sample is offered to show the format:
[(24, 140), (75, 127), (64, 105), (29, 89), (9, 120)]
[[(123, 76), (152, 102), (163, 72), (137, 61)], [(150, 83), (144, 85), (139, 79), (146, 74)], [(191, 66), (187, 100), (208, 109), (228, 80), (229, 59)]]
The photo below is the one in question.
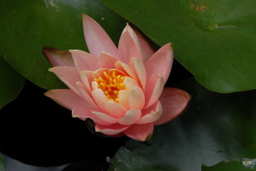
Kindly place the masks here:
[(164, 87), (173, 63), (171, 43), (154, 53), (127, 24), (116, 48), (104, 29), (84, 14), (83, 29), (90, 54), (44, 48), (54, 66), (50, 71), (69, 88), (47, 91), (46, 96), (72, 110), (73, 117), (92, 119), (97, 132), (140, 141), (151, 137), (154, 125), (184, 110), (189, 94)]

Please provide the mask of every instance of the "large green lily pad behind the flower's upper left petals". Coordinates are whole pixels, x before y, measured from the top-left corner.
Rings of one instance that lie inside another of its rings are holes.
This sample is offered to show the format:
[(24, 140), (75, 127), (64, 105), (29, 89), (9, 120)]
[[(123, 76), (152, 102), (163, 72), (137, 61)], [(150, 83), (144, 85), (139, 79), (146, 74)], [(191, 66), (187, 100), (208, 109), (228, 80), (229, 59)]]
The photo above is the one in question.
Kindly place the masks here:
[(99, 0), (0, 0), (0, 56), (24, 77), (45, 89), (63, 84), (51, 68), (42, 47), (86, 50), (82, 13), (97, 20), (117, 41), (125, 21)]

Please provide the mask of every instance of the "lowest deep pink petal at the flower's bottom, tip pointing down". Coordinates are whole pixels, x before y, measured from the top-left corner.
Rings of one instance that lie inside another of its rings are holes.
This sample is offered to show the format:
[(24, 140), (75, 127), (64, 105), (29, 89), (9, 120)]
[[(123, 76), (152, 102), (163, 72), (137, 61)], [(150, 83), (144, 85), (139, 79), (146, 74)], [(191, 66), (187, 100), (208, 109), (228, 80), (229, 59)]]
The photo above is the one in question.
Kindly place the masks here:
[(124, 131), (124, 134), (134, 140), (145, 141), (152, 136), (153, 130), (154, 123), (132, 124), (132, 126)]

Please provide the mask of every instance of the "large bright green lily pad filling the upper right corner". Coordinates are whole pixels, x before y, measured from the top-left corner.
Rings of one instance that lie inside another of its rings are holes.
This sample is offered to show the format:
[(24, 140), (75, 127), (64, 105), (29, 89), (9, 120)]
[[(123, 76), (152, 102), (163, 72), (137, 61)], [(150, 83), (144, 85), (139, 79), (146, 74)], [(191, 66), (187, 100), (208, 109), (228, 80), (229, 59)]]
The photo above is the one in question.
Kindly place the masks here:
[(102, 0), (175, 58), (212, 91), (256, 88), (256, 1)]

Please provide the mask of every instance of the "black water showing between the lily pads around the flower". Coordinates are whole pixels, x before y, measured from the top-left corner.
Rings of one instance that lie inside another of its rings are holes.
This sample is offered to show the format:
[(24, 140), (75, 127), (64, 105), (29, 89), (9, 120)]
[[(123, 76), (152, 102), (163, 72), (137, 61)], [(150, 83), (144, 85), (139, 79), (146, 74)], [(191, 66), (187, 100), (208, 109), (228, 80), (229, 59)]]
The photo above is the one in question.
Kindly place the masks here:
[[(188, 77), (174, 61), (166, 86)], [(29, 165), (71, 163), (64, 170), (107, 170), (107, 156), (112, 158), (129, 138), (94, 135), (69, 110), (44, 96), (45, 91), (26, 80), (17, 99), (0, 110), (0, 151)]]

